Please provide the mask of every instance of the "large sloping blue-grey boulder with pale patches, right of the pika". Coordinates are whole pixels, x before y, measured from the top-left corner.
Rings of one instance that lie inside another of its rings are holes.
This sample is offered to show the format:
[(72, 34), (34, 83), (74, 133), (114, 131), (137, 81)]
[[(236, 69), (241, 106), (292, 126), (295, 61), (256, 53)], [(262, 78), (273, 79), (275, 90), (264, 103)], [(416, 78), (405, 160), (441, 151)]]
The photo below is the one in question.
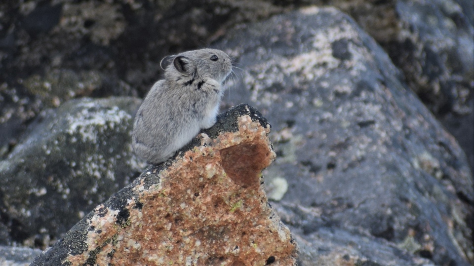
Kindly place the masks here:
[(301, 9), (231, 31), (216, 47), (245, 70), (224, 100), (249, 102), (274, 125), (277, 158), (264, 173), (286, 179), (281, 201), (321, 216), (288, 220), (294, 232), (311, 241), (344, 228), (437, 265), (474, 262), (464, 152), (351, 18)]

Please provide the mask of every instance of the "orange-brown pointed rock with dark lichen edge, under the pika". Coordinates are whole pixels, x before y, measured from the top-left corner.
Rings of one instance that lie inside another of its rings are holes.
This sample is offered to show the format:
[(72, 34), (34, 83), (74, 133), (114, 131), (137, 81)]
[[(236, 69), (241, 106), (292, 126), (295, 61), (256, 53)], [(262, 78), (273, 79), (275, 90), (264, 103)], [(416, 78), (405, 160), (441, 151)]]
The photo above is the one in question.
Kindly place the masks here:
[(296, 243), (268, 204), (270, 124), (240, 105), (175, 158), (97, 206), (32, 266), (295, 265)]

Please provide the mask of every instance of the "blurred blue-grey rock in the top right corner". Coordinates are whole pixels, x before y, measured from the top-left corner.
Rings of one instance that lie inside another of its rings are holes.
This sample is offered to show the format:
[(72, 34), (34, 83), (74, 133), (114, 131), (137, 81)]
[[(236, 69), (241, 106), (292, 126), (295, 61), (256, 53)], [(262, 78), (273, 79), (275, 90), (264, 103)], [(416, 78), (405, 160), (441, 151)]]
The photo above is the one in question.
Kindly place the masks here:
[(402, 32), (409, 34), (382, 45), (410, 87), (462, 143), (474, 171), (474, 2), (399, 0), (396, 12), (406, 25)]

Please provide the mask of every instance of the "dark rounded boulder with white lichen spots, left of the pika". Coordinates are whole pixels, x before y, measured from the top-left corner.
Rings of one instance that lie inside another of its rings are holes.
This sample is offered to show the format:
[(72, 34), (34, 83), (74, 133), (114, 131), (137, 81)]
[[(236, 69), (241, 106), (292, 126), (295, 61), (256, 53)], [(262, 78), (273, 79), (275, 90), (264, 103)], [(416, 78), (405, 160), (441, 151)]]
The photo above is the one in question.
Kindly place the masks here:
[(140, 103), (72, 100), (30, 126), (28, 137), (0, 161), (1, 244), (47, 247), (130, 182), (141, 170), (130, 137)]

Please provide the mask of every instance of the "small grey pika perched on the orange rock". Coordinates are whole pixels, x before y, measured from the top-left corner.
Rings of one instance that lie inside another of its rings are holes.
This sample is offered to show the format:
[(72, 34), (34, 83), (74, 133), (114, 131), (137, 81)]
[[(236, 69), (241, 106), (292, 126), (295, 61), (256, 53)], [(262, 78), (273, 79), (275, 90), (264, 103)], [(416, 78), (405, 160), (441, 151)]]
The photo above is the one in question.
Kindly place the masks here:
[(151, 164), (167, 160), (216, 123), (232, 61), (221, 50), (199, 49), (166, 56), (160, 67), (164, 79), (145, 97), (132, 133), (135, 153)]

